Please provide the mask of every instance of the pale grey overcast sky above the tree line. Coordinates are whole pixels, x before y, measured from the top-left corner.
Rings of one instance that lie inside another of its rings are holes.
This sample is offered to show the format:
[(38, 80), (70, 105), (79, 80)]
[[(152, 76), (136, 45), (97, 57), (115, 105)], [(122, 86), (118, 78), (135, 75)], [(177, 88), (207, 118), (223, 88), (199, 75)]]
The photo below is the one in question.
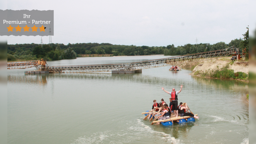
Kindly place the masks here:
[[(2, 4), (1, 4), (2, 5)], [(0, 9), (5, 10), (3, 7)], [(54, 10), (52, 43), (167, 46), (243, 38), (249, 1), (8, 0), (11, 10)], [(40, 44), (41, 36), (4, 36), (8, 44)], [(49, 43), (49, 36), (43, 36)]]

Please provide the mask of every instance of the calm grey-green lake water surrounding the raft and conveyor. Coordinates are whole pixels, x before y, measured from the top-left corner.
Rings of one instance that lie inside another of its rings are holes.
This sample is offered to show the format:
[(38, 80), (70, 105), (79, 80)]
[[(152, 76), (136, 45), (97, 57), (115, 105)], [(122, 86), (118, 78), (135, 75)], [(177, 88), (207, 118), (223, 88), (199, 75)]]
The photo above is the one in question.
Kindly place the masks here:
[[(47, 61), (50, 66), (130, 63), (170, 56), (87, 57)], [(190, 76), (190, 68), (142, 73), (25, 75), (8, 70), (8, 144), (249, 143), (248, 83)], [(187, 102), (199, 119), (164, 127), (144, 121), (153, 100)]]

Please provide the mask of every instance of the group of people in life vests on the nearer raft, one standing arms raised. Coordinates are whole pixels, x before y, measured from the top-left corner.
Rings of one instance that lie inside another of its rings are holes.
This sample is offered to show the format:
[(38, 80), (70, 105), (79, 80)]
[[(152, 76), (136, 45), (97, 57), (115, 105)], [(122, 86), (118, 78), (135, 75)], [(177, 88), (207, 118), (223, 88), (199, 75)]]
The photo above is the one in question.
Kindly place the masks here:
[[(195, 116), (192, 113), (186, 113), (188, 111), (187, 103), (180, 102), (180, 105), (178, 106), (178, 94), (181, 92), (183, 85), (180, 86), (180, 91), (176, 92), (175, 88), (172, 88), (172, 92), (167, 92), (162, 87), (162, 90), (164, 92), (171, 95), (170, 105), (168, 107), (168, 104), (164, 102), (164, 99), (161, 100), (160, 103), (157, 103), (156, 100), (153, 100), (154, 104), (152, 106), (151, 112), (148, 116), (148, 119), (151, 115), (157, 116), (158, 120), (165, 120), (169, 119), (171, 116), (171, 113), (174, 114), (174, 116), (178, 117), (178, 115), (182, 116), (191, 116), (194, 118), (199, 118), (199, 116)], [(155, 111), (155, 113), (153, 113)], [(156, 124), (160, 124), (159, 122)]]

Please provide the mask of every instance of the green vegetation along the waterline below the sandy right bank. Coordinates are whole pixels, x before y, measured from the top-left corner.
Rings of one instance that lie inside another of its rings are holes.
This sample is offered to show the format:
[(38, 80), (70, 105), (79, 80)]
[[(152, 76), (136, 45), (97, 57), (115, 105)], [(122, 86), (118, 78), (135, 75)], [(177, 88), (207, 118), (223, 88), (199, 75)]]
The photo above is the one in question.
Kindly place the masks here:
[(248, 81), (248, 74), (244, 72), (234, 72), (233, 69), (228, 69), (229, 64), (227, 64), (225, 67), (221, 68), (220, 70), (217, 69), (215, 71), (196, 71), (194, 75), (199, 75), (202, 77), (212, 77), (212, 78), (224, 78), (224, 79), (241, 79)]

